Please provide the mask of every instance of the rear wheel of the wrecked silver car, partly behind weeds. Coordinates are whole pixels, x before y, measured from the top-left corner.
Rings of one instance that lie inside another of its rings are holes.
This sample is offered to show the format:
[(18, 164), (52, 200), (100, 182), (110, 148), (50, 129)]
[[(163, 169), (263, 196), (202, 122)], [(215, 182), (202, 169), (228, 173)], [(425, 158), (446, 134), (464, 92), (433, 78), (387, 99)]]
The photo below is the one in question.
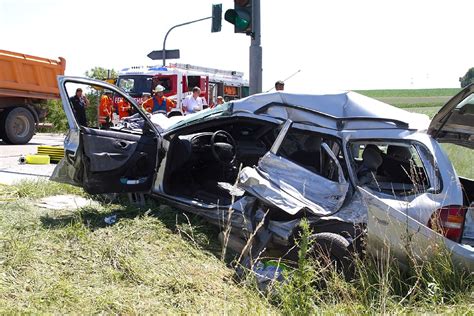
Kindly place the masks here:
[(348, 279), (354, 275), (354, 254), (351, 243), (335, 233), (318, 233), (311, 235), (313, 240), (309, 255), (323, 265), (335, 265)]

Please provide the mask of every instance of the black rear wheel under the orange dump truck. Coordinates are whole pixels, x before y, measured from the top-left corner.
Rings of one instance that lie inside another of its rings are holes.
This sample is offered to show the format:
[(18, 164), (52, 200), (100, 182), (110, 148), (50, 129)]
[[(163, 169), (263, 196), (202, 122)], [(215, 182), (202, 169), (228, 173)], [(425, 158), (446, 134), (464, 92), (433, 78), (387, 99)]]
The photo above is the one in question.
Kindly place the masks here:
[(8, 144), (26, 144), (35, 133), (33, 114), (24, 107), (4, 111), (0, 126), (3, 127), (3, 141)]

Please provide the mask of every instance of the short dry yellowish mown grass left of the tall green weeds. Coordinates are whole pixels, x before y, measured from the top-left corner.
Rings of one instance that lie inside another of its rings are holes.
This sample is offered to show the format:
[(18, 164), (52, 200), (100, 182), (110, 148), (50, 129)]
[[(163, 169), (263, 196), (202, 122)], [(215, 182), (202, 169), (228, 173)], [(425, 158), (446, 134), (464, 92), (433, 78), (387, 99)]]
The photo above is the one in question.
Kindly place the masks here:
[[(62, 211), (34, 204), (64, 193), (85, 195), (50, 182), (1, 188), (1, 314), (272, 313), (234, 282), (218, 258), (217, 232), (199, 219), (190, 218), (190, 232), (187, 219), (156, 203)], [(108, 226), (111, 214), (118, 221)]]

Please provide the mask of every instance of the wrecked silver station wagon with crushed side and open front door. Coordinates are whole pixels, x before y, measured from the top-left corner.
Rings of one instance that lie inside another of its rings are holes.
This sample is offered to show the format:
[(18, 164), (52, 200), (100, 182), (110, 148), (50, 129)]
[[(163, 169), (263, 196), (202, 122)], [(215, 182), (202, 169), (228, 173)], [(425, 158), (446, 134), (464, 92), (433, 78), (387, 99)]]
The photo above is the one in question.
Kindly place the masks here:
[[(474, 271), (474, 182), (457, 176), (438, 143), (474, 147), (474, 86), (430, 125), (425, 115), (354, 92), (258, 94), (154, 119), (114, 86), (58, 80), (70, 130), (57, 181), (89, 193), (148, 193), (230, 225), (242, 244), (253, 237), (255, 256), (291, 249), (307, 218), (316, 242), (341, 263), (363, 247), (390, 248), (403, 263), (407, 247), (424, 259), (445, 245)], [(69, 102), (77, 86), (113, 91), (142, 124), (79, 126)]]

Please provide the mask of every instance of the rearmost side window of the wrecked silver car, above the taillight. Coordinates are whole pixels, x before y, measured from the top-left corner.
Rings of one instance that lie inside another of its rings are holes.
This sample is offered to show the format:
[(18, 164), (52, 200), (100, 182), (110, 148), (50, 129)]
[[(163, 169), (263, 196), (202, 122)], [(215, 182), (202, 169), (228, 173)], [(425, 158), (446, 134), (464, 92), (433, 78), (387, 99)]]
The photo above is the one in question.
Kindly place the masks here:
[(367, 141), (350, 143), (348, 149), (358, 185), (395, 195), (440, 188), (432, 155), (421, 144)]

